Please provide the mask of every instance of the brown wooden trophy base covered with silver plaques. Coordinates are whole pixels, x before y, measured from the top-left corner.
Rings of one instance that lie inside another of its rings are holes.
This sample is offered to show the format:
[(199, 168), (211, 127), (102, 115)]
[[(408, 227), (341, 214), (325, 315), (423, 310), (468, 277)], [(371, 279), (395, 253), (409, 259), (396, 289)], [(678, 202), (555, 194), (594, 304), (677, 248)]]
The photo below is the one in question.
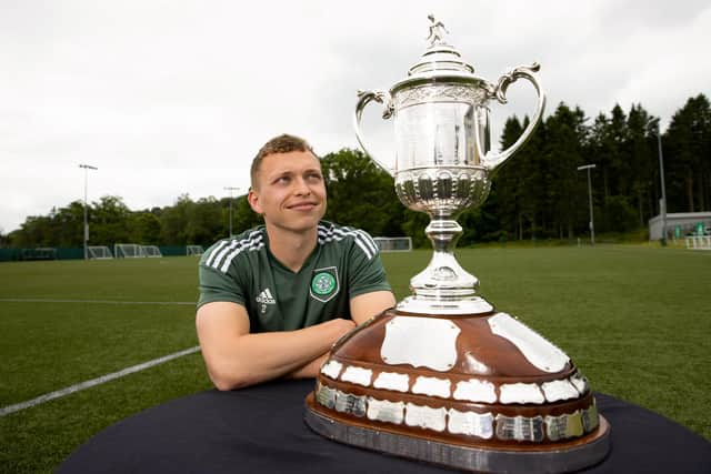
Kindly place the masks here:
[(388, 310), (337, 342), (306, 422), (347, 444), (477, 472), (570, 472), (602, 461), (610, 425), (557, 346), (493, 306)]

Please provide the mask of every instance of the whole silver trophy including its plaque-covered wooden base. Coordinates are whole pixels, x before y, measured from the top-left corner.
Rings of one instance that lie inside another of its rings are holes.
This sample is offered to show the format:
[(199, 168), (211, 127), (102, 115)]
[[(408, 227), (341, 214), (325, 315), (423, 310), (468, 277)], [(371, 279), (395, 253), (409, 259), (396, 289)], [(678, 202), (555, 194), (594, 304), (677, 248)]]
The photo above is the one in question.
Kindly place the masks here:
[[(359, 92), (356, 133), (371, 101), (394, 119), (394, 178), (408, 208), (427, 212), (434, 255), (413, 295), (341, 337), (307, 396), (317, 433), (398, 456), (475, 472), (571, 472), (609, 452), (610, 425), (570, 357), (477, 295), (454, 258), (457, 215), (480, 205), (492, 173), (531, 135), (544, 97), (538, 65), (490, 83), (444, 41), (430, 17), (429, 47), (389, 92)], [(488, 104), (523, 78), (538, 92), (533, 119), (503, 151), (491, 149)], [(571, 309), (574, 311), (574, 309)]]

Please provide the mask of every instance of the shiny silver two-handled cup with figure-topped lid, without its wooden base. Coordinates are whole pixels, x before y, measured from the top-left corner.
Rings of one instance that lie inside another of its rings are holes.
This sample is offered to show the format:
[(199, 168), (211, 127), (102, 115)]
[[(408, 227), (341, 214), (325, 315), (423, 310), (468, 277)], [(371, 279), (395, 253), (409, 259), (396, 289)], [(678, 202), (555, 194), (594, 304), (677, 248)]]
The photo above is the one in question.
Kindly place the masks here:
[[(535, 77), (535, 63), (513, 69), (495, 84), (475, 75), (474, 68), (444, 40), (444, 26), (434, 17), (429, 18), (429, 48), (408, 77), (389, 92), (359, 91), (356, 135), (365, 153), (394, 178), (400, 201), (414, 211), (427, 212), (431, 219), (425, 233), (434, 254), (427, 269), (410, 281), (414, 295), (398, 309), (414, 313), (481, 313), (491, 311), (491, 306), (475, 296), (478, 279), (454, 258), (462, 233), (455, 219), (464, 209), (481, 205), (487, 199), (492, 173), (525, 143), (540, 122), (545, 95)], [(489, 102), (507, 103), (509, 85), (521, 78), (535, 88), (535, 112), (515, 143), (493, 151)], [(371, 101), (384, 104), (383, 119), (394, 121), (394, 165), (377, 158), (365, 144), (361, 118)]]

